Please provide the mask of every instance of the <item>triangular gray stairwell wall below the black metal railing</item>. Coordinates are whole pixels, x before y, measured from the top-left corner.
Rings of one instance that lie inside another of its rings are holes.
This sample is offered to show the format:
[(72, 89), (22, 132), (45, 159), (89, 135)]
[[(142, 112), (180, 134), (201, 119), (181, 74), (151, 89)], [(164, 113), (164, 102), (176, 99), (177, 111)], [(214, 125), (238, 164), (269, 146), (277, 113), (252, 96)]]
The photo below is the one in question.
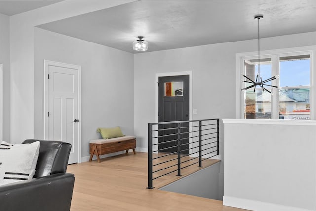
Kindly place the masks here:
[(209, 199), (222, 199), (218, 192), (220, 163), (197, 171), (178, 181), (166, 185), (160, 190), (183, 193)]

